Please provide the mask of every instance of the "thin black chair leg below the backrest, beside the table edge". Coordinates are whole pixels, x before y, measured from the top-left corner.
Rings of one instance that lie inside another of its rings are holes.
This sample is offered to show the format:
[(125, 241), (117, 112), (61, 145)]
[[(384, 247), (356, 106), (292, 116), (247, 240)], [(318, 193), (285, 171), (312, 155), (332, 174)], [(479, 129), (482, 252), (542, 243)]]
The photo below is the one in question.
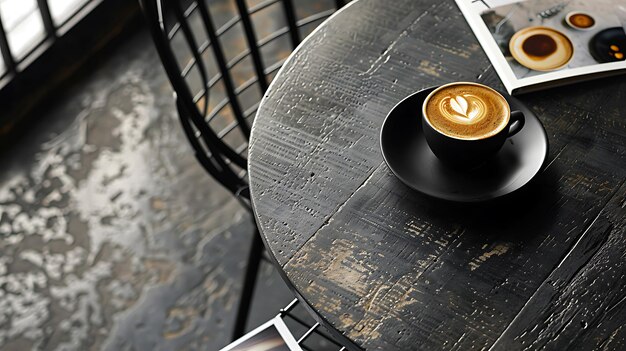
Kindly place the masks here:
[(235, 319), (235, 328), (233, 330), (232, 338), (233, 341), (240, 338), (245, 333), (246, 322), (250, 312), (250, 305), (252, 304), (252, 296), (254, 294), (254, 287), (259, 273), (263, 250), (263, 240), (261, 239), (261, 234), (258, 229), (256, 229), (254, 231), (254, 238), (252, 239), (252, 246), (250, 247), (250, 253), (248, 256), (248, 265), (246, 267), (241, 298), (239, 299), (239, 306), (237, 307), (237, 317)]

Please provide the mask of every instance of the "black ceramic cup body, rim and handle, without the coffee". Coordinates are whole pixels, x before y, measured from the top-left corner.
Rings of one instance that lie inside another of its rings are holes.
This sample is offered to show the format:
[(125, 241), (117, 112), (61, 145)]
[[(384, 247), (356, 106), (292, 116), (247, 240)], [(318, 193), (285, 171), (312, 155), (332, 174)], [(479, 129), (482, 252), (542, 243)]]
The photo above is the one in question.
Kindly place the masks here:
[[(492, 90), (508, 107), (508, 121), (504, 127), (494, 135), (478, 138), (463, 139), (454, 137), (435, 129), (428, 120), (426, 106), (430, 98), (439, 89), (454, 84), (471, 84)], [(424, 100), (422, 106), (422, 130), (428, 146), (442, 162), (459, 169), (474, 169), (493, 157), (504, 145), (507, 138), (517, 134), (524, 127), (524, 114), (521, 111), (512, 111), (506, 99), (497, 91), (478, 83), (457, 82), (440, 86), (434, 89)]]

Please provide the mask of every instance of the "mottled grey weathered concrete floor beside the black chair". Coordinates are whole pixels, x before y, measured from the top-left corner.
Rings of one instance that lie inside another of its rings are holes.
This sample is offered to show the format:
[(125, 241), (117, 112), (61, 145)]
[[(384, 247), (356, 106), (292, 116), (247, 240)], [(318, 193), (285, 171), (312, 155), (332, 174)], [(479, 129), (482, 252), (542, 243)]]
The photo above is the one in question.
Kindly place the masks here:
[[(217, 350), (253, 227), (197, 164), (147, 31), (0, 151), (0, 349)], [(250, 328), (291, 294), (262, 269)]]

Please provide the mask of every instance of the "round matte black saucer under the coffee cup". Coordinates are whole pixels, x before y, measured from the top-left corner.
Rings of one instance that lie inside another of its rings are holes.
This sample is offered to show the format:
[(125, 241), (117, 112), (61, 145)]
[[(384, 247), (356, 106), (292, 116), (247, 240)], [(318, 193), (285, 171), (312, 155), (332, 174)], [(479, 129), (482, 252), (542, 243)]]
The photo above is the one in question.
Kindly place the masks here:
[(439, 199), (478, 202), (518, 190), (541, 170), (548, 154), (546, 131), (532, 111), (506, 94), (503, 96), (511, 110), (524, 113), (524, 128), (477, 169), (459, 171), (442, 164), (426, 144), (420, 123), (422, 102), (435, 88), (421, 90), (402, 100), (383, 123), (380, 132), (383, 158), (403, 183)]

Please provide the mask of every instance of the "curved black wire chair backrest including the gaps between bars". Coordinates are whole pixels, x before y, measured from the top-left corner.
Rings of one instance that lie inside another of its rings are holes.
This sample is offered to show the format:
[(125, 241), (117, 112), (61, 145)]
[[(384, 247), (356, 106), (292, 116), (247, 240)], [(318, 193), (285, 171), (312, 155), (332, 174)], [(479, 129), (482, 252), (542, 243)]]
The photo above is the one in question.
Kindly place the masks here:
[(246, 198), (248, 139), (261, 97), (301, 38), (344, 1), (139, 2), (196, 158)]

